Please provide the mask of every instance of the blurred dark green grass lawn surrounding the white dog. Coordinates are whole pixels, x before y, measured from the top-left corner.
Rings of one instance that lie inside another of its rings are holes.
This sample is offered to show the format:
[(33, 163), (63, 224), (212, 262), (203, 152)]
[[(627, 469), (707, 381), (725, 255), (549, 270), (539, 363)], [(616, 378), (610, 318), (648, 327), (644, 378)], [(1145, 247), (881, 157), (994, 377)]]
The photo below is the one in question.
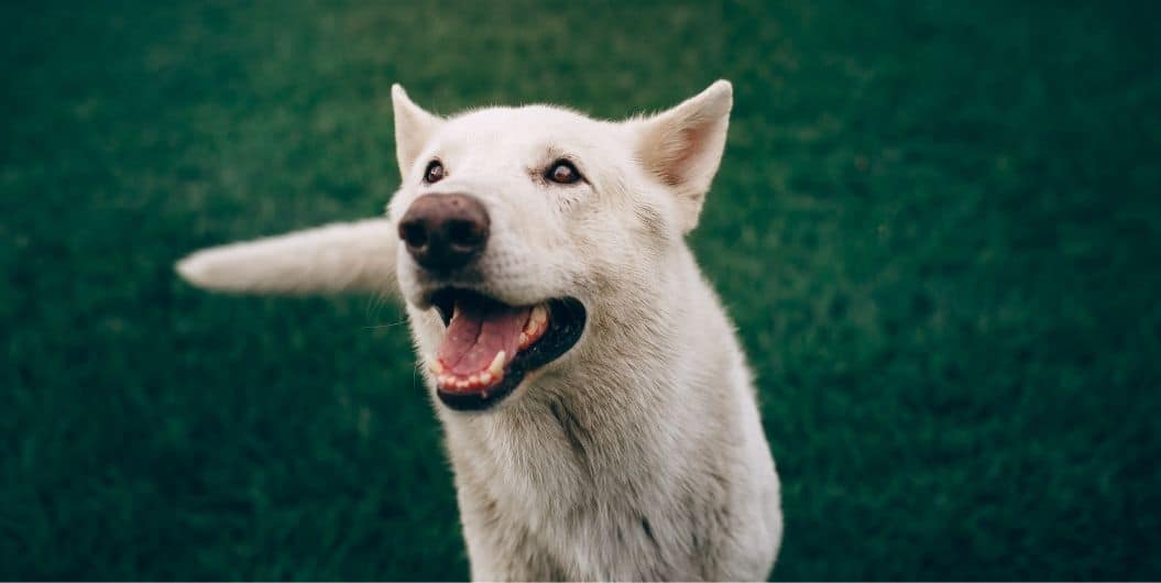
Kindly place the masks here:
[(402, 310), (196, 292), (381, 211), (389, 87), (620, 117), (734, 81), (692, 244), (783, 580), (1161, 577), (1153, 2), (6, 2), (0, 576), (447, 580)]

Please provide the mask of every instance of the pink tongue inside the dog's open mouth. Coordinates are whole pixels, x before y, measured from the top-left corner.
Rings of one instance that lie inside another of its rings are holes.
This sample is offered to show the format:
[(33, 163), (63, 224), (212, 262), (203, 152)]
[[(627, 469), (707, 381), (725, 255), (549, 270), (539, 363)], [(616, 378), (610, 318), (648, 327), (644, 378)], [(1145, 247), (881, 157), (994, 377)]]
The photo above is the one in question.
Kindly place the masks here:
[(450, 373), (467, 376), (486, 370), (500, 351), (505, 362), (512, 360), (529, 311), (484, 298), (459, 300), (439, 346), (440, 362)]

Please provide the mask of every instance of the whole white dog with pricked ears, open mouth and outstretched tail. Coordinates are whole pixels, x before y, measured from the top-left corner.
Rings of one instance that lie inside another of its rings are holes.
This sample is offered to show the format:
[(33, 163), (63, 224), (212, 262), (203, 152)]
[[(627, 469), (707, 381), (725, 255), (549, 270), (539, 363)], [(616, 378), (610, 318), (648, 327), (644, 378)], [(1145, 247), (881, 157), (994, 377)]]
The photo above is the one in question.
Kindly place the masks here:
[(651, 117), (438, 117), (392, 88), (387, 218), (201, 251), (204, 288), (390, 292), (447, 439), (476, 580), (759, 580), (779, 483), (733, 325), (684, 236), (733, 93)]

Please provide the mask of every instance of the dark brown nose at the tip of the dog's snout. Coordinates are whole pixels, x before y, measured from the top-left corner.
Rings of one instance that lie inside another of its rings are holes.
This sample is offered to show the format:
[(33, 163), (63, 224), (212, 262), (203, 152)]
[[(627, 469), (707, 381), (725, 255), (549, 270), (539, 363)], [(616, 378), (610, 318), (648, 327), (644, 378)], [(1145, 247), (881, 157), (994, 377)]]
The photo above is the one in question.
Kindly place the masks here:
[(448, 272), (468, 265), (488, 245), (491, 221), (475, 197), (425, 194), (399, 221), (399, 238), (426, 269)]

